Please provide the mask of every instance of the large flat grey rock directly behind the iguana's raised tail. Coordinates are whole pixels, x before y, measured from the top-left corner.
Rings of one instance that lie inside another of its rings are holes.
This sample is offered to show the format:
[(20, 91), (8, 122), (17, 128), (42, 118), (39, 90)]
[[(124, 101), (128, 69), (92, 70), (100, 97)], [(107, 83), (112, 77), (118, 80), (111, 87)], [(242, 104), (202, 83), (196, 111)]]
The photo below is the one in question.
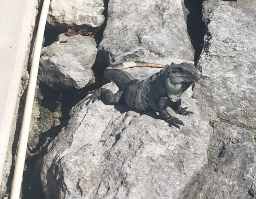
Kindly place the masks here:
[(183, 0), (109, 1), (100, 49), (111, 62), (158, 57), (194, 60), (187, 14)]

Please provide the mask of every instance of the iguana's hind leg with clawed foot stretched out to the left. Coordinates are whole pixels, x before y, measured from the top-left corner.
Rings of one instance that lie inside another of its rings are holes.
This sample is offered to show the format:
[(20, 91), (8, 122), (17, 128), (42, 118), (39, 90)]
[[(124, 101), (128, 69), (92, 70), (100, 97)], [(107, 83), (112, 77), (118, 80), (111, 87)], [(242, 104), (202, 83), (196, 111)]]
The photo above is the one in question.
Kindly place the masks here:
[(90, 96), (85, 97), (86, 105), (90, 102), (94, 103), (96, 100), (101, 99), (103, 103), (107, 105), (116, 105), (124, 103), (124, 91), (118, 91), (117, 93), (113, 93), (109, 89), (99, 88), (94, 91), (89, 91), (88, 94)]

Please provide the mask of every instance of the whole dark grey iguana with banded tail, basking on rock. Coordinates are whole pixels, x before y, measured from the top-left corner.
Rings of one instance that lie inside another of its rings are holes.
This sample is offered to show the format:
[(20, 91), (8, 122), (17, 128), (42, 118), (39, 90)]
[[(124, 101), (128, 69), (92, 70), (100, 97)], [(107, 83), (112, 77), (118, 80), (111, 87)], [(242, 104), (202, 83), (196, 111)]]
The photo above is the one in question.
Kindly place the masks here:
[[(131, 67), (165, 67), (145, 80), (131, 79), (122, 71)], [(170, 65), (153, 64), (148, 62), (124, 62), (105, 69), (104, 76), (117, 83), (123, 90), (113, 93), (109, 89), (99, 88), (89, 91), (85, 97), (86, 105), (101, 99), (107, 105), (127, 104), (139, 111), (156, 111), (161, 119), (170, 127), (184, 126), (178, 118), (172, 117), (167, 107), (171, 107), (176, 114), (189, 115), (187, 107), (181, 107), (181, 94), (201, 76), (193, 64), (183, 62)]]

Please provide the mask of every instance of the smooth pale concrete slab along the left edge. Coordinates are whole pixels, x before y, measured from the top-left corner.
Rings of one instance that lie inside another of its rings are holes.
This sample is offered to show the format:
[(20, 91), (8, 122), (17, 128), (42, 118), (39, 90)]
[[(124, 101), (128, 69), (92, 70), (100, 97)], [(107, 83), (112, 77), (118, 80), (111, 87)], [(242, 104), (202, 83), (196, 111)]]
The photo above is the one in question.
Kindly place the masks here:
[[(19, 86), (26, 67), (30, 40), (37, 14), (37, 0), (9, 0), (0, 3), (0, 182), (3, 183), (8, 143), (13, 136), (12, 125), (18, 108)], [(9, 168), (10, 169), (10, 168)], [(2, 190), (0, 189), (0, 192)]]

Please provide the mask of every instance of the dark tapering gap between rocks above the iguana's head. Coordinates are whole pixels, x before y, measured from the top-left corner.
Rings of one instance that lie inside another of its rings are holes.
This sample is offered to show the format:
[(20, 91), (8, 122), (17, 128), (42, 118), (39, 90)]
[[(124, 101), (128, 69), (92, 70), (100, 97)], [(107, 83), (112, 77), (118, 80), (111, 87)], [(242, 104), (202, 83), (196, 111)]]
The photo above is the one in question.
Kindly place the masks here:
[(184, 0), (184, 5), (189, 10), (187, 16), (187, 32), (192, 46), (195, 50), (194, 62), (197, 65), (203, 48), (203, 37), (205, 36), (205, 23), (202, 14), (203, 0)]

